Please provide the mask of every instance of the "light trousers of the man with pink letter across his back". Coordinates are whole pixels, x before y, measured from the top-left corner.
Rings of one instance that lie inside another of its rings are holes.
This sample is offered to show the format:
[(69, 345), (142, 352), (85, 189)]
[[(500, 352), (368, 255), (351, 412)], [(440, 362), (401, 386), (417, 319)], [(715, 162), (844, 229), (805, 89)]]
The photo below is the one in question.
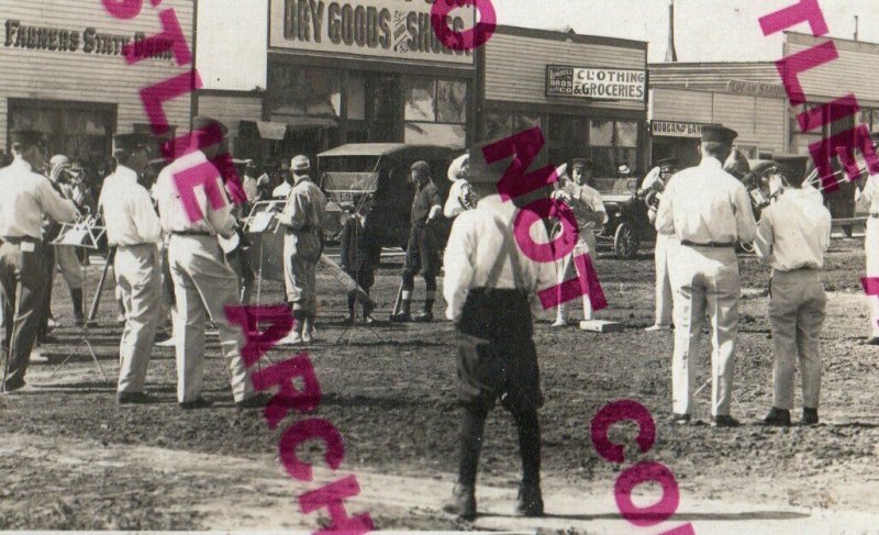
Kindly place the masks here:
[(174, 333), (177, 339), (177, 400), (193, 401), (204, 379), (205, 313), (220, 332), (235, 401), (253, 395), (251, 374), (241, 357), (240, 328), (226, 321), (224, 308), (241, 304), (238, 281), (213, 236), (171, 236), (168, 245), (174, 296)]

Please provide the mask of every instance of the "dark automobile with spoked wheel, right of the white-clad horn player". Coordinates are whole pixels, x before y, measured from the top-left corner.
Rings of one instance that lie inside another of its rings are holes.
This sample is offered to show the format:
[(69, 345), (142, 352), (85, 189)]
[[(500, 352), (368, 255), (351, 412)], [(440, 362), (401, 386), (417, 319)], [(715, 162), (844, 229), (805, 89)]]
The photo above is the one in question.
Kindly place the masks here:
[(596, 234), (598, 243), (611, 244), (616, 258), (632, 259), (641, 242), (650, 241), (656, 231), (647, 218), (647, 204), (637, 196), (637, 178), (593, 178), (601, 193), (608, 222)]

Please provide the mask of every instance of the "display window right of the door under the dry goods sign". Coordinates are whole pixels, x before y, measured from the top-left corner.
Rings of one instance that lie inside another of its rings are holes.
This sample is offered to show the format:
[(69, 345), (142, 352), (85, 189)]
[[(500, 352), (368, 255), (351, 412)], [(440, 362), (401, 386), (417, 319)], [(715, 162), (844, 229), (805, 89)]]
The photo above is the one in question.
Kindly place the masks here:
[(466, 143), (467, 82), (434, 78), (403, 80), (403, 138), (463, 147)]

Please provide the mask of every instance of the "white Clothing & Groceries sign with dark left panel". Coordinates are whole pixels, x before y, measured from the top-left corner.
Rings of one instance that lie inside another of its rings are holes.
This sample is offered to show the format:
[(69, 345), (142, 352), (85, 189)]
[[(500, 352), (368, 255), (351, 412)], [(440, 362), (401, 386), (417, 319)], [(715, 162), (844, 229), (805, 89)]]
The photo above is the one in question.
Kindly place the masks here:
[(643, 70), (547, 65), (546, 96), (643, 101), (645, 79)]

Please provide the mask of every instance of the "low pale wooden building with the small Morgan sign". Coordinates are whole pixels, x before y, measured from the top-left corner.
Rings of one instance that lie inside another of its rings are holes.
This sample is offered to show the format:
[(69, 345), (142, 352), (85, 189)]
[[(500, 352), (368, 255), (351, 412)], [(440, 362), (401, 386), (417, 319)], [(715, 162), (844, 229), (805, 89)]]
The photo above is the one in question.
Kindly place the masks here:
[(702, 126), (738, 132), (748, 159), (788, 152), (788, 103), (774, 63), (652, 64), (650, 159), (699, 163)]

